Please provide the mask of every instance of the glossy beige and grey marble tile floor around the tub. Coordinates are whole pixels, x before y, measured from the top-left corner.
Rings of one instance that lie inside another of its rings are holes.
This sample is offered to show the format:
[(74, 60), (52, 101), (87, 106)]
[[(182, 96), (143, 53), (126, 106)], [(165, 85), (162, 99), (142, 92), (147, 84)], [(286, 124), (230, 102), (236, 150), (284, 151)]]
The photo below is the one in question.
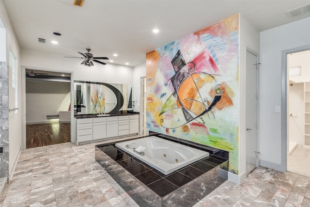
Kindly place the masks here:
[[(101, 143), (23, 150), (0, 207), (138, 207), (95, 161)], [(306, 207), (309, 180), (260, 167), (240, 185), (225, 181), (194, 207)]]

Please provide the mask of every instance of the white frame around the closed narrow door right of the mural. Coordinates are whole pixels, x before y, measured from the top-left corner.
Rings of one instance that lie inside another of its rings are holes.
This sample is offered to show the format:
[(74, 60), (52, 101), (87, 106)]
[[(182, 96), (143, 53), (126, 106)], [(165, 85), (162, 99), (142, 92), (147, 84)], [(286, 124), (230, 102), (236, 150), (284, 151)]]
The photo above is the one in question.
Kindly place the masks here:
[[(253, 54), (256, 56), (256, 64), (258, 64), (258, 69), (256, 70), (256, 93), (258, 95), (258, 98), (256, 99), (256, 124), (259, 124), (259, 111), (260, 111), (260, 104), (259, 104), (259, 88), (260, 88), (260, 55), (259, 53), (255, 52), (254, 50), (246, 47), (246, 65), (247, 65), (247, 52)], [(247, 80), (246, 80), (247, 83)], [(247, 138), (246, 138), (247, 139)], [(247, 142), (247, 141), (246, 141)], [(245, 143), (246, 144), (246, 143)], [(259, 155), (259, 126), (256, 128), (256, 152), (258, 152)], [(260, 166), (260, 158), (259, 156), (256, 157), (256, 167)]]

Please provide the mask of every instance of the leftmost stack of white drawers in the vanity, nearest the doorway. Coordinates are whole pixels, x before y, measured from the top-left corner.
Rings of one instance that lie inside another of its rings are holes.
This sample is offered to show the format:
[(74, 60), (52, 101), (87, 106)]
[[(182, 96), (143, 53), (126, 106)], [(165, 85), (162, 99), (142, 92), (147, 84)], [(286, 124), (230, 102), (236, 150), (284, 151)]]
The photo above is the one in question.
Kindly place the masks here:
[(93, 140), (93, 119), (77, 120), (77, 138), (78, 142), (87, 142)]

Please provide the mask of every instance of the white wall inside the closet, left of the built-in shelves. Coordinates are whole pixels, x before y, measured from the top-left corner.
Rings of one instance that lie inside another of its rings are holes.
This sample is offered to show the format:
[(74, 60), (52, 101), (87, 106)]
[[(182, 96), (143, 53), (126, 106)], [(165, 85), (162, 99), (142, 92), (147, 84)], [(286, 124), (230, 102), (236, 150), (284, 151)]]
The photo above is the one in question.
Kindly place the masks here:
[[(289, 140), (300, 145), (305, 143), (305, 116), (304, 116), (304, 83), (293, 83), (289, 86)], [(296, 116), (295, 116), (296, 115)]]

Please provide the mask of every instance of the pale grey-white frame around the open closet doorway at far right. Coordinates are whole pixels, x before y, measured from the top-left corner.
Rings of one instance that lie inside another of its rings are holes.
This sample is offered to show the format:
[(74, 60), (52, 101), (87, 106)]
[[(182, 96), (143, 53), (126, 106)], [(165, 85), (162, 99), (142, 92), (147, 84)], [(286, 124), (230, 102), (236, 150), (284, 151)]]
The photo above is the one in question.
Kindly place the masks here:
[(287, 171), (287, 140), (289, 134), (288, 129), (288, 103), (287, 103), (287, 85), (288, 85), (288, 71), (287, 71), (287, 55), (295, 52), (302, 52), (310, 50), (310, 45), (282, 50), (281, 53), (281, 172)]

